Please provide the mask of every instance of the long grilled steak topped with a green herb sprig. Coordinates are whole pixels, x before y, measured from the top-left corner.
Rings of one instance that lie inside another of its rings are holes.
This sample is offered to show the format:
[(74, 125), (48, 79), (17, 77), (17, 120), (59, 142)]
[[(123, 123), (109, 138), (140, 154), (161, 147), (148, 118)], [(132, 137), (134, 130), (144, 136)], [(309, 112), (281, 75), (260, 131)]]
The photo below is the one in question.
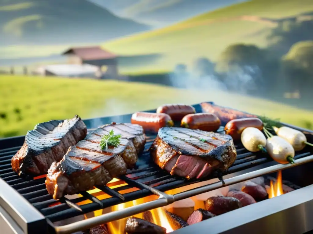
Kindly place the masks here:
[[(121, 134), (121, 143), (118, 147), (101, 150), (101, 136), (110, 129), (114, 134)], [(70, 147), (59, 163), (51, 165), (45, 182), (48, 193), (57, 199), (90, 190), (95, 185), (105, 185), (136, 164), (145, 143), (143, 129), (137, 124), (113, 123), (96, 129)]]

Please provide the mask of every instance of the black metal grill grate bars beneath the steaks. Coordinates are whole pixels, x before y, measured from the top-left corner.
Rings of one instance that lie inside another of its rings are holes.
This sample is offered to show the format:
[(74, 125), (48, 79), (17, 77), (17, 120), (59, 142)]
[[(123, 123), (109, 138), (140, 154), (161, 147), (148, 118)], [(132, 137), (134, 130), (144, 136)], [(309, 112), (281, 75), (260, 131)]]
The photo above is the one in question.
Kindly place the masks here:
[[(80, 214), (85, 214), (105, 207), (120, 204), (122, 202), (132, 201), (141, 197), (151, 195), (150, 191), (145, 189), (143, 185), (148, 185), (150, 188), (156, 188), (160, 191), (167, 191), (170, 189), (186, 186), (188, 184), (197, 183), (200, 180), (187, 180), (177, 176), (171, 176), (165, 170), (156, 166), (150, 158), (148, 149), (151, 146), (156, 135), (147, 134), (147, 143), (143, 154), (139, 157), (136, 168), (128, 170), (127, 175), (121, 177), (121, 181), (116, 183), (124, 183), (117, 188), (109, 188), (107, 186), (98, 186), (97, 188), (111, 197), (99, 200), (95, 196), (82, 192), (75, 199), (63, 198), (58, 201), (59, 204), (54, 205), (55, 201), (47, 192), (45, 188), (45, 178), (20, 178), (11, 169), (10, 159), (17, 152), (19, 147), (7, 150), (1, 150), (0, 153), (0, 177), (6, 181), (12, 188), (16, 189), (24, 198), (26, 198), (34, 207), (36, 207), (45, 217), (50, 221), (60, 221), (66, 218), (74, 217)], [(238, 172), (246, 168), (272, 161), (267, 155), (262, 153), (248, 152), (244, 147), (239, 144), (236, 145), (237, 159), (232, 167), (228, 169), (229, 173)], [(302, 152), (295, 156), (295, 159), (303, 158), (310, 155), (310, 152)], [(216, 177), (216, 175), (215, 175)], [(210, 177), (214, 178), (214, 176)], [(209, 178), (207, 178), (209, 179)], [(139, 182), (137, 184), (131, 182)], [(116, 184), (115, 183), (115, 184)], [(137, 187), (136, 191), (130, 193), (123, 193), (121, 191)], [(147, 188), (147, 187), (146, 187)], [(84, 205), (77, 205), (76, 203), (90, 200), (90, 203)], [(54, 206), (51, 206), (54, 205)]]

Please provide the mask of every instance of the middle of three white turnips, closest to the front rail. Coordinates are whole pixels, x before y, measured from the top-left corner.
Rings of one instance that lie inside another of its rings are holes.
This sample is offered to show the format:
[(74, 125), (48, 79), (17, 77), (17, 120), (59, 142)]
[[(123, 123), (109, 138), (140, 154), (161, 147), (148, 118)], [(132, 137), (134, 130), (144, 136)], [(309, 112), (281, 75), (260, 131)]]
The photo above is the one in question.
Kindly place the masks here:
[(279, 136), (273, 136), (267, 129), (264, 128), (264, 133), (267, 135), (266, 150), (269, 155), (278, 163), (295, 163), (295, 149), (285, 139)]

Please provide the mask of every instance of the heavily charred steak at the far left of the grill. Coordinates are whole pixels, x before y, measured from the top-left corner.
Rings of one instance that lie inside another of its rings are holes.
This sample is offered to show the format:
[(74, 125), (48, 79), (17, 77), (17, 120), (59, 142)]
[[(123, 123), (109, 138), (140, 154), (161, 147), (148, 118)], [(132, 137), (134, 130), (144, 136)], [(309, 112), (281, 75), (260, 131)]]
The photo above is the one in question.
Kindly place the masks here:
[(11, 159), (13, 171), (40, 175), (60, 161), (70, 146), (85, 138), (87, 128), (79, 116), (37, 124), (28, 131), (22, 148)]

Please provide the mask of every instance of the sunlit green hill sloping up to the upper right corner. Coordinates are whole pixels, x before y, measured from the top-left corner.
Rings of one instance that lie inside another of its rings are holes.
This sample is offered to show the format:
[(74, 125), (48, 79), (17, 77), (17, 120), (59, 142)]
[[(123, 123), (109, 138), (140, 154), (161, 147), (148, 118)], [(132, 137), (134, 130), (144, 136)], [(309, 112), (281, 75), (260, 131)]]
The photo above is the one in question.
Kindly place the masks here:
[(103, 46), (116, 53), (163, 54), (159, 61), (150, 66), (139, 64), (130, 71), (172, 70), (177, 63), (191, 65), (202, 56), (216, 61), (230, 44), (247, 43), (267, 47), (273, 43), (268, 36), (281, 22), (287, 22), (290, 18), (296, 20), (295, 17), (312, 12), (311, 0), (252, 0), (170, 27), (112, 40)]

